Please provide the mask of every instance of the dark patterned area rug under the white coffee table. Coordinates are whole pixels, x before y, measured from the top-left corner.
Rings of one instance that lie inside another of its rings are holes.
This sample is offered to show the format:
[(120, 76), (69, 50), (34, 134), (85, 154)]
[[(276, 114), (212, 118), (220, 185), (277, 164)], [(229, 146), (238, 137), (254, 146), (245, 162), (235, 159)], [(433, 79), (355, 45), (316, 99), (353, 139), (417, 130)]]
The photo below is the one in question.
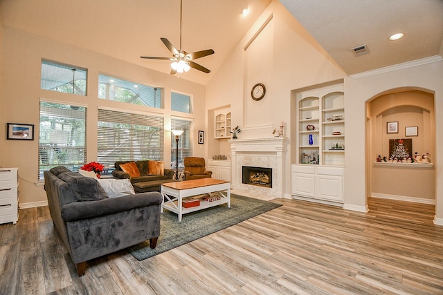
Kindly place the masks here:
[(138, 261), (156, 256), (175, 247), (197, 240), (221, 229), (253, 218), (266, 211), (280, 207), (280, 204), (230, 194), (230, 208), (227, 204), (183, 215), (181, 222), (177, 214), (168, 210), (161, 213), (160, 237), (155, 249), (150, 242), (141, 242), (128, 250)]

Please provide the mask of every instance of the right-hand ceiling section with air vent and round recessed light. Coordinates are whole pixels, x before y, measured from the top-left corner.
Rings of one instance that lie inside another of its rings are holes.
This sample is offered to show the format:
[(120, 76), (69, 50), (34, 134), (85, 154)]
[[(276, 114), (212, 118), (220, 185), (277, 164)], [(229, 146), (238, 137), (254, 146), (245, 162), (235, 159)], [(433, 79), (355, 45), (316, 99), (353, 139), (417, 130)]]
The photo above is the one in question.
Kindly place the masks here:
[[(347, 75), (443, 55), (442, 0), (280, 0)], [(404, 37), (390, 41), (397, 32)], [(355, 57), (351, 48), (366, 45)]]

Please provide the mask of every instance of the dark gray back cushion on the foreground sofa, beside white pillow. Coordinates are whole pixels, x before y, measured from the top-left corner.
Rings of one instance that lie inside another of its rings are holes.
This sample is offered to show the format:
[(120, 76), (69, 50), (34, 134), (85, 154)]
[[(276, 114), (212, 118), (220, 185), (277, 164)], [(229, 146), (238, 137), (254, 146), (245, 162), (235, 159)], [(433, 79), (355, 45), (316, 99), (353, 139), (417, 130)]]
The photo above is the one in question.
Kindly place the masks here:
[(87, 178), (76, 172), (64, 172), (58, 178), (69, 184), (78, 201), (96, 201), (108, 198), (105, 190), (93, 178)]

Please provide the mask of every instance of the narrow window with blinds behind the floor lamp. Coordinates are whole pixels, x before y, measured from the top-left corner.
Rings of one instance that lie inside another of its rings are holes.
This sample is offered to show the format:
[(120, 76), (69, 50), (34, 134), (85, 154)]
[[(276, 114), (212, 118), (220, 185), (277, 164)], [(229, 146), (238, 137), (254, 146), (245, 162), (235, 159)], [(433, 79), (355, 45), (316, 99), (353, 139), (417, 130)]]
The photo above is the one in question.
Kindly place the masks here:
[[(190, 131), (192, 122), (179, 119), (171, 119), (171, 130), (183, 130), (179, 136), (179, 169), (184, 167), (183, 159), (192, 156), (192, 138)], [(171, 168), (176, 169), (177, 142), (171, 132)]]

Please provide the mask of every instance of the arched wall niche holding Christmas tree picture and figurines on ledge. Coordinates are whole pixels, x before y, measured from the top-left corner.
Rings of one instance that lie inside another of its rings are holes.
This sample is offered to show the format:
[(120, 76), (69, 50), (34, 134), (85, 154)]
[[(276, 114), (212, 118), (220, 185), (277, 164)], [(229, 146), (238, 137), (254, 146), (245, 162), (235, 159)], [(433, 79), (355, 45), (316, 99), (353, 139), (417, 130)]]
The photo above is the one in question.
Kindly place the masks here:
[[(435, 204), (435, 167), (376, 165), (378, 155), (390, 156), (389, 141), (412, 140), (415, 152), (435, 155), (434, 93), (421, 88), (396, 88), (367, 102), (368, 196)], [(398, 122), (398, 132), (388, 133), (388, 122)], [(417, 136), (406, 136), (406, 127), (417, 126)], [(420, 165), (420, 164), (417, 164)]]

